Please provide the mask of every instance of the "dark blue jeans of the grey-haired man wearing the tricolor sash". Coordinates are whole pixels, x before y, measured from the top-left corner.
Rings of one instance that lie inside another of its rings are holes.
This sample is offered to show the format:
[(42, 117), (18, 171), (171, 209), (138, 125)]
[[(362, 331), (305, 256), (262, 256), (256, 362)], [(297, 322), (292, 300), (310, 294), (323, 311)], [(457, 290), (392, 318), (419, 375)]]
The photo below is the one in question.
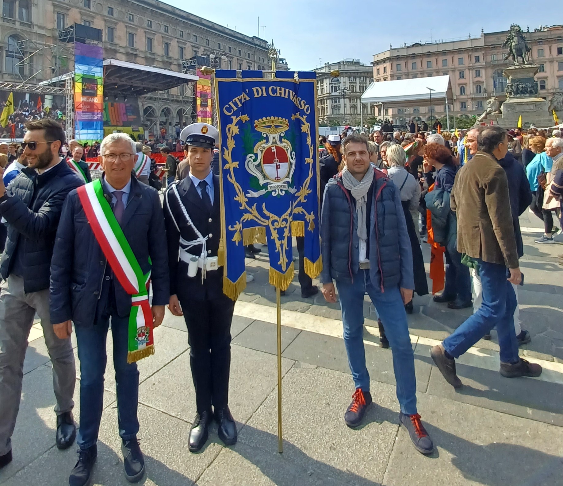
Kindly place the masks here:
[[(80, 360), (80, 428), (78, 445), (87, 449), (96, 444), (104, 404), (104, 373), (108, 355), (106, 337), (110, 314), (103, 315), (90, 328), (75, 327)], [(113, 366), (117, 391), (117, 422), (119, 436), (132, 439), (137, 435), (137, 402), (139, 373), (136, 363), (127, 363), (129, 317), (111, 313)]]

